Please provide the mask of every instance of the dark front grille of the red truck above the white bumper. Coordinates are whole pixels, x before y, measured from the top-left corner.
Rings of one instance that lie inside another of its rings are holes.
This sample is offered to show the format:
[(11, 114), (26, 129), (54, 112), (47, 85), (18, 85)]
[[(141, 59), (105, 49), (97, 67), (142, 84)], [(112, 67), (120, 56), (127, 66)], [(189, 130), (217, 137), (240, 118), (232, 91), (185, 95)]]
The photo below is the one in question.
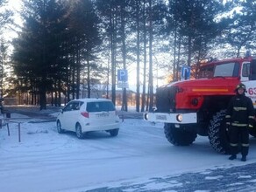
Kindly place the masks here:
[(160, 87), (156, 92), (157, 112), (170, 113), (175, 112), (175, 96), (177, 86)]

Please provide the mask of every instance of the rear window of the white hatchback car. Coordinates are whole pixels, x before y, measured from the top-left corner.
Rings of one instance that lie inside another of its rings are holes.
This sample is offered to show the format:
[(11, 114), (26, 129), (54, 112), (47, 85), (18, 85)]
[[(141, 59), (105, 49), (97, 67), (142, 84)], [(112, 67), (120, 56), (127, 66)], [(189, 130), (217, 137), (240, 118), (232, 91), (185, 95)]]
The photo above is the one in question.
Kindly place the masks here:
[(87, 112), (109, 112), (115, 111), (115, 106), (110, 101), (89, 102), (86, 106)]

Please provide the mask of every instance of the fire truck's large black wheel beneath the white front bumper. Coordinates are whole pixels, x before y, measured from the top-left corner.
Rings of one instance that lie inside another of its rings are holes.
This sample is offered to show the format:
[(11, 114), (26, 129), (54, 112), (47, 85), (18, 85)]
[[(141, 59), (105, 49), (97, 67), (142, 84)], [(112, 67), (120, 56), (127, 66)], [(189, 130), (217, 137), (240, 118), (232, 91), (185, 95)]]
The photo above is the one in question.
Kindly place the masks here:
[(176, 128), (172, 123), (165, 123), (164, 129), (167, 141), (174, 146), (188, 146), (196, 140), (197, 134), (195, 132), (183, 128)]

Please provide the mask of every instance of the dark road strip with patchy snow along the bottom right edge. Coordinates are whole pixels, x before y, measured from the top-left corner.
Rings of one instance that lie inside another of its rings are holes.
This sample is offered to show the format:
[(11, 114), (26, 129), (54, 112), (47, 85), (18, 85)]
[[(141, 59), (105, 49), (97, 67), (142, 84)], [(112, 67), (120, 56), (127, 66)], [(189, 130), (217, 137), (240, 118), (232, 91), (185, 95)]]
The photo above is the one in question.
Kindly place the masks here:
[(119, 187), (102, 187), (89, 192), (151, 191), (151, 192), (252, 192), (256, 189), (255, 163), (240, 167), (217, 168), (200, 173), (153, 177), (146, 182), (137, 182)]

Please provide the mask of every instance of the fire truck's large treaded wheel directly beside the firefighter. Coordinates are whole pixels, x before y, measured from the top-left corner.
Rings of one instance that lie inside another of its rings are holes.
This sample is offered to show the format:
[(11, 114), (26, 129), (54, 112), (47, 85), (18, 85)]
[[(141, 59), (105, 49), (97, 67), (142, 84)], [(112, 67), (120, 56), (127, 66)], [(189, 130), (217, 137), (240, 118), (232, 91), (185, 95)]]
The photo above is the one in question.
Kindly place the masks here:
[(226, 110), (221, 110), (210, 120), (208, 137), (210, 145), (215, 151), (221, 154), (230, 154), (230, 143), (224, 120), (225, 113)]

